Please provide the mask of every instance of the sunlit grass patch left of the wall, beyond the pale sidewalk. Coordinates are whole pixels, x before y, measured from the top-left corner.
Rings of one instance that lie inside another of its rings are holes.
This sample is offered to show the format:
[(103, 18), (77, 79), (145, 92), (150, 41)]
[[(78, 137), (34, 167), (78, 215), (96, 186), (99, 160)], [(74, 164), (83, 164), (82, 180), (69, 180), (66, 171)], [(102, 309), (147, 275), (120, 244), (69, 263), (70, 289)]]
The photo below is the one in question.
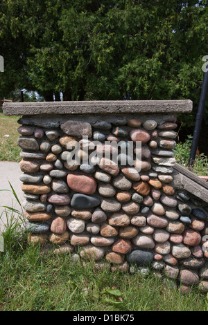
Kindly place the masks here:
[[(16, 162), (21, 160), (19, 157), (21, 149), (17, 146), (17, 138), (19, 138), (17, 120), (19, 120), (17, 116), (5, 116), (0, 111), (0, 160)], [(6, 135), (9, 137), (5, 137)]]

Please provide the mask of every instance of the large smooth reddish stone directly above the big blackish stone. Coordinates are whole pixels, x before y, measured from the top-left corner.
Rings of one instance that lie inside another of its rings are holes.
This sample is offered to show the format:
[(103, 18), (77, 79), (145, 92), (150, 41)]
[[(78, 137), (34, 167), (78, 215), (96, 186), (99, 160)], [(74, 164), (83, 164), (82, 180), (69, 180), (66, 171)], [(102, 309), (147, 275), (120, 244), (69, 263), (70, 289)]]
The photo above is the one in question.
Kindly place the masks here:
[(83, 194), (94, 194), (97, 187), (96, 180), (92, 176), (78, 174), (68, 174), (67, 183), (73, 191)]

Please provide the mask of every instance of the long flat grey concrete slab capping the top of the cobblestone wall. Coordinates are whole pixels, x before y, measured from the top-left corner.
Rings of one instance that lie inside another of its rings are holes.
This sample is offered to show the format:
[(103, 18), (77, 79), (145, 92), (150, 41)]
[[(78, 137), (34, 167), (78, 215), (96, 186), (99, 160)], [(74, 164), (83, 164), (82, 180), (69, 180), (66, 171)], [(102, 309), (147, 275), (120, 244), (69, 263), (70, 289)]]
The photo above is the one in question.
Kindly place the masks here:
[(114, 100), (85, 102), (5, 102), (4, 115), (190, 113), (191, 100)]

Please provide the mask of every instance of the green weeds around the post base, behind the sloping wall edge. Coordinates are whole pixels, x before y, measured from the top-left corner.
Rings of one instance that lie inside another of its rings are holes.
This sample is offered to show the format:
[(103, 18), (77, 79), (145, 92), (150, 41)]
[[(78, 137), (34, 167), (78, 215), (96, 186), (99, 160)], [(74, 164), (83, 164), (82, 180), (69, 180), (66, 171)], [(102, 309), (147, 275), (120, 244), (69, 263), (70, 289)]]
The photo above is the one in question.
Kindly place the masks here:
[[(192, 136), (188, 136), (184, 142), (177, 143), (175, 148), (175, 159), (183, 167), (189, 166), (189, 156), (191, 151)], [(196, 155), (196, 160), (191, 169), (198, 176), (208, 176), (208, 157), (201, 153)]]

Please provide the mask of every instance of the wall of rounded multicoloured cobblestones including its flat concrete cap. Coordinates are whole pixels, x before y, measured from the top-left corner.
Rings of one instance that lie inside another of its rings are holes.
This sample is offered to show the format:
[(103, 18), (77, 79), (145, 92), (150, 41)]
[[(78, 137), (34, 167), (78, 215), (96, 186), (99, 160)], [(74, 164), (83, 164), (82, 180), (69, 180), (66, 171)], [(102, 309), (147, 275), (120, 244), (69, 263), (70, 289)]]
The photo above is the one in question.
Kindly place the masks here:
[[(28, 242), (112, 270), (153, 268), (208, 290), (208, 203), (179, 185), (174, 166), (176, 116), (191, 108), (191, 101), (4, 104), (6, 115), (23, 115), (17, 144)], [(96, 165), (68, 159), (79, 147), (86, 160), (94, 140)], [(120, 149), (141, 142), (134, 148), (141, 162), (105, 158), (111, 141)]]

